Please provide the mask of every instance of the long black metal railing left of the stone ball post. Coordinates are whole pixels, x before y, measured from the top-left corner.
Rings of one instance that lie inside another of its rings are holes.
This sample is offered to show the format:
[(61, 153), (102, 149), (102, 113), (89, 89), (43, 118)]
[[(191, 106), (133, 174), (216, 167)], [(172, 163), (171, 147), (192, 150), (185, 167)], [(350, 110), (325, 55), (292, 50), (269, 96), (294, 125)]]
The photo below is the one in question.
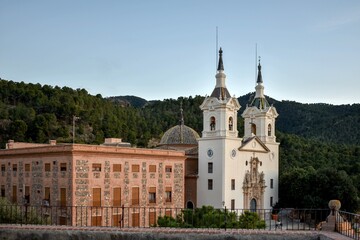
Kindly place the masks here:
[[(276, 214), (274, 214), (276, 212)], [(228, 210), (156, 207), (0, 206), (0, 223), (131, 227), (314, 230), (329, 209)], [(350, 219), (350, 217), (348, 217)], [(352, 217), (351, 219), (355, 219)], [(356, 225), (357, 226), (357, 225)], [(344, 230), (345, 228), (342, 227)]]

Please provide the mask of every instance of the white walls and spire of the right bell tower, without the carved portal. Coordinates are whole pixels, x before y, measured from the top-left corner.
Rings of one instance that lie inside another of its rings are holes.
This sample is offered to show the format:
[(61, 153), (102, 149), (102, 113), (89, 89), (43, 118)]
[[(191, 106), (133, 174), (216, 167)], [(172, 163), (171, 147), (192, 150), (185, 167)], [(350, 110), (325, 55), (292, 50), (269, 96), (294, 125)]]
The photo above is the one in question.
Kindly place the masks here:
[[(244, 142), (253, 138), (259, 139), (267, 148), (267, 153), (254, 154), (261, 163), (262, 178), (265, 184), (264, 193), (259, 193), (262, 201), (261, 207), (271, 208), (278, 201), (279, 183), (279, 143), (275, 136), (275, 119), (278, 117), (276, 108), (268, 103), (264, 95), (264, 85), (259, 60), (256, 93), (251, 104), (246, 106), (242, 117), (244, 118)], [(251, 172), (251, 170), (249, 171)], [(244, 208), (251, 208), (251, 200), (254, 199), (249, 192), (247, 179), (244, 180)], [(255, 191), (256, 193), (256, 191)], [(256, 195), (256, 194), (255, 194)], [(260, 198), (258, 198), (260, 199)], [(261, 202), (261, 201), (259, 201)]]

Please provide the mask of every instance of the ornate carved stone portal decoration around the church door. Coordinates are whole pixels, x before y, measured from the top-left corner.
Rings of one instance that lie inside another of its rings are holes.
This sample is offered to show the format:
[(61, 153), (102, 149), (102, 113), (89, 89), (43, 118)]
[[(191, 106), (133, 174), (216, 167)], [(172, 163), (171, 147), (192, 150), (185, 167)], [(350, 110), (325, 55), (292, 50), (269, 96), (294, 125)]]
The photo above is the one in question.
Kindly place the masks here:
[(243, 181), (244, 209), (262, 209), (264, 206), (265, 178), (264, 173), (259, 172), (261, 161), (257, 157), (251, 157), (250, 170), (245, 173)]

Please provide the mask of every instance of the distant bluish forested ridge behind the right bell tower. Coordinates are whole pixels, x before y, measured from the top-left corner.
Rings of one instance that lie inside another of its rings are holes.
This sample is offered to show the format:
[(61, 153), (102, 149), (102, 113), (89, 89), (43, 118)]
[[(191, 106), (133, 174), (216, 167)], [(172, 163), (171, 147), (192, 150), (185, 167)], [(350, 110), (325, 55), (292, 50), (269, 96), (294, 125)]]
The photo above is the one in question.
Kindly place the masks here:
[[(241, 112), (251, 97), (247, 94), (239, 98)], [(277, 101), (269, 97), (268, 100), (279, 113), (278, 131), (325, 142), (360, 144), (360, 104), (335, 106)]]

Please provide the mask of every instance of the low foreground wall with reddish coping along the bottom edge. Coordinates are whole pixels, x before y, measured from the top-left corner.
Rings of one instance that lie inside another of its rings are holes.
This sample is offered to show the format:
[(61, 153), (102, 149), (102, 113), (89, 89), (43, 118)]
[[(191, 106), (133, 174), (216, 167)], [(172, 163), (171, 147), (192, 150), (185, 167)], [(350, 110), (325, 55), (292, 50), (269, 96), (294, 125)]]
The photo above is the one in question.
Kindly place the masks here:
[(257, 239), (314, 239), (349, 240), (336, 232), (293, 231), (293, 230), (247, 230), (247, 229), (194, 229), (194, 228), (114, 228), (114, 227), (72, 227), (49, 225), (0, 224), (1, 240), (257, 240)]

